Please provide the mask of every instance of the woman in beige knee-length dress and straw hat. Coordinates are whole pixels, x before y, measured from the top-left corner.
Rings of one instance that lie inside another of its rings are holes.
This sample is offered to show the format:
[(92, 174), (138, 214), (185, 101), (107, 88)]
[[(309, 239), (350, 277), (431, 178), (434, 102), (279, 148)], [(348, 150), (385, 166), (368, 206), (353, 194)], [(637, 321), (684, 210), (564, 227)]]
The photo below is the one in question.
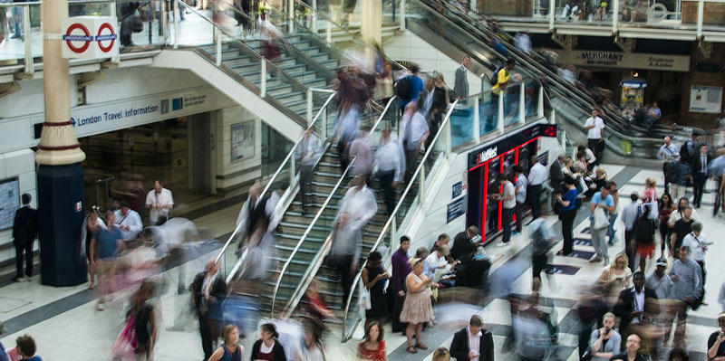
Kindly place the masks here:
[[(405, 329), (405, 336), (408, 337), (408, 352), (415, 354), (418, 352), (417, 348), (428, 349), (421, 342), (420, 334), (423, 332), (423, 323), (433, 319), (433, 306), (430, 304), (428, 290), (430, 287), (438, 287), (438, 285), (423, 275), (422, 259), (414, 258), (410, 263), (412, 271), (405, 278), (408, 294), (402, 305), (401, 322), (408, 322), (408, 328)], [(412, 344), (413, 334), (415, 334), (415, 345)]]

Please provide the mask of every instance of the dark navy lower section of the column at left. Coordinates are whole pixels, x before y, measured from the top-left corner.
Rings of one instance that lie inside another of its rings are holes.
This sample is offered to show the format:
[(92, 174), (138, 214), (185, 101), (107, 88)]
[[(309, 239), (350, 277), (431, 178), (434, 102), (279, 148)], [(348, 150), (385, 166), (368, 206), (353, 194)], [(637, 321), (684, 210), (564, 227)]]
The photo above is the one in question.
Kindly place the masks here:
[(38, 166), (38, 217), (41, 282), (48, 286), (85, 283), (86, 256), (81, 252), (85, 206), (81, 163)]

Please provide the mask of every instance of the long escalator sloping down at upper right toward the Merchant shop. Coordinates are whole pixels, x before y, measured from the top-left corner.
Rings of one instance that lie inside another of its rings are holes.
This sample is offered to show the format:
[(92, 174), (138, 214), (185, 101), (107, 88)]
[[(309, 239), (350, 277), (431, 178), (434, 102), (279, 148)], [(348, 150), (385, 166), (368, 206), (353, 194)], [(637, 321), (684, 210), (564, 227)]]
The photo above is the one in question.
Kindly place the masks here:
[[(440, 43), (442, 37), (449, 43), (455, 45), (459, 50), (471, 56), (471, 58), (494, 71), (500, 64), (505, 62), (505, 57), (489, 46), (489, 39), (496, 37), (500, 39), (504, 34), (494, 33), (485, 23), (480, 22), (481, 18), (460, 12), (454, 6), (445, 2), (436, 2), (437, 5), (430, 5), (429, 1), (411, 0), (406, 12), (407, 28), (430, 43)], [(507, 35), (506, 35), (507, 37)], [(592, 105), (595, 103), (587, 93), (576, 88), (568, 81), (558, 76), (556, 71), (549, 69), (546, 65), (537, 62), (531, 56), (519, 52), (510, 43), (502, 42), (510, 57), (516, 59), (517, 70), (541, 82), (546, 89), (548, 105), (556, 110), (557, 114), (565, 117), (557, 117), (564, 120), (561, 124), (567, 130), (575, 131), (585, 135), (585, 119), (589, 117)], [(441, 49), (442, 50), (442, 49)], [(460, 57), (460, 56), (456, 56)], [(652, 138), (648, 129), (639, 128), (623, 119), (619, 109), (604, 104), (606, 114), (603, 119), (607, 126), (605, 131), (606, 148), (613, 155), (619, 157), (655, 158), (657, 150), (661, 145), (660, 135), (663, 136), (665, 129), (654, 129)], [(697, 128), (666, 129), (667, 134), (675, 137), (685, 138), (691, 132), (704, 134)], [(662, 134), (660, 134), (662, 133)]]

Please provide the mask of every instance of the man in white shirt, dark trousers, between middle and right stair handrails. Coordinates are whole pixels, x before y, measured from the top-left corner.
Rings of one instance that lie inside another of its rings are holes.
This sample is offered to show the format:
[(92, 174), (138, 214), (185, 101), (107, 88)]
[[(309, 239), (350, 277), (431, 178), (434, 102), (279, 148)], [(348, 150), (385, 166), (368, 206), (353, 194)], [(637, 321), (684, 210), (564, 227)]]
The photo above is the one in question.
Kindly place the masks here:
[(391, 138), (391, 128), (382, 129), (378, 150), (375, 151), (375, 164), (378, 167), (378, 184), (382, 188), (388, 216), (395, 209), (395, 189), (401, 181), (401, 147), (397, 139)]

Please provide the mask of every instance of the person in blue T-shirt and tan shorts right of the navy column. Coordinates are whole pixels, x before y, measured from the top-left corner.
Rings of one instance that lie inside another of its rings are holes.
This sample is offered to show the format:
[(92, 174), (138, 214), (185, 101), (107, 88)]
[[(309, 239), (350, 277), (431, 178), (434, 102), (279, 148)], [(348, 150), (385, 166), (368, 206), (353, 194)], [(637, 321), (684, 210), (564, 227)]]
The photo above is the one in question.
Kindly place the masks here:
[(106, 228), (96, 229), (91, 240), (91, 255), (97, 255), (98, 260), (92, 259), (92, 267), (98, 273), (98, 310), (106, 309), (106, 297), (110, 290), (115, 290), (114, 275), (116, 272), (116, 259), (123, 248), (123, 233), (115, 225), (111, 211), (106, 211)]

